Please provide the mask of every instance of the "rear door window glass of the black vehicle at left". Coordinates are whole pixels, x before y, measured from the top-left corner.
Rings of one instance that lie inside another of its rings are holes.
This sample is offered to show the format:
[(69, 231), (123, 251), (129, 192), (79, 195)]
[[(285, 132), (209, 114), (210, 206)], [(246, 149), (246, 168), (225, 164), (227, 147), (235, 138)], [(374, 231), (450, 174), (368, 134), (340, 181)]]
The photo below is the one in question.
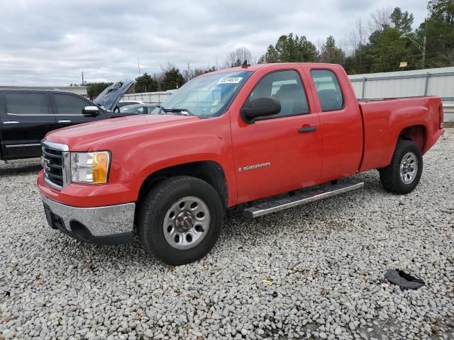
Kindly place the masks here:
[(6, 113), (14, 115), (51, 115), (45, 94), (6, 94)]

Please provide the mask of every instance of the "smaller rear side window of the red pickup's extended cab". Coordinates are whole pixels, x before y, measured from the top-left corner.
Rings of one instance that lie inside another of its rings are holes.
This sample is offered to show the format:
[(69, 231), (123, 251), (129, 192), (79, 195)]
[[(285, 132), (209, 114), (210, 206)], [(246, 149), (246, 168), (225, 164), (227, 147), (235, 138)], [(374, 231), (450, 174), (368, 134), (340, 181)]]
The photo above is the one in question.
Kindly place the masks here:
[(343, 96), (336, 74), (328, 69), (313, 69), (311, 76), (319, 95), (321, 111), (341, 110)]

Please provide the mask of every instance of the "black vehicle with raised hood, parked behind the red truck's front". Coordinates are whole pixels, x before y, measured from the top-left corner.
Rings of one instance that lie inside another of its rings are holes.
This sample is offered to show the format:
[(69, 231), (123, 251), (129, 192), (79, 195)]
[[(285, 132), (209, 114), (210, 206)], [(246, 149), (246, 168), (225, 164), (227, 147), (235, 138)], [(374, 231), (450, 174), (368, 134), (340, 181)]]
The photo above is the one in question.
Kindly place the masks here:
[(51, 130), (137, 114), (118, 109), (118, 101), (132, 85), (133, 81), (118, 82), (94, 101), (62, 91), (0, 90), (0, 159), (40, 157), (40, 142)]

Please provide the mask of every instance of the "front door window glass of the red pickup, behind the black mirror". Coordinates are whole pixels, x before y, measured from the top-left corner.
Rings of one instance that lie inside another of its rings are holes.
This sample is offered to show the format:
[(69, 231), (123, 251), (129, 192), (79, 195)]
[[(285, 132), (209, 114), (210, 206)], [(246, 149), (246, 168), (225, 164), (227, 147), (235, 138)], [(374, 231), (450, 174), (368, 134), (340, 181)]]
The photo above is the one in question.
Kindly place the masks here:
[(281, 103), (281, 111), (277, 115), (266, 118), (286, 117), (289, 115), (304, 115), (309, 113), (304, 87), (298, 72), (294, 70), (279, 71), (267, 74), (260, 79), (253, 92), (248, 97), (245, 107), (253, 99), (274, 97)]

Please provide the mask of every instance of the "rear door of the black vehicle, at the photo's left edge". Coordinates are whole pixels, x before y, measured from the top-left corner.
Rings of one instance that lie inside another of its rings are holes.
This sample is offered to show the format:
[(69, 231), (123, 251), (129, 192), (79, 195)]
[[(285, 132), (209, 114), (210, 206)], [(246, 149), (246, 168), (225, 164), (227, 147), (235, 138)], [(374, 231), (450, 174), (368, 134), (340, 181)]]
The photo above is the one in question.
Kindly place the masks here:
[(4, 159), (40, 157), (40, 141), (57, 128), (49, 93), (5, 91), (1, 94), (1, 148)]

